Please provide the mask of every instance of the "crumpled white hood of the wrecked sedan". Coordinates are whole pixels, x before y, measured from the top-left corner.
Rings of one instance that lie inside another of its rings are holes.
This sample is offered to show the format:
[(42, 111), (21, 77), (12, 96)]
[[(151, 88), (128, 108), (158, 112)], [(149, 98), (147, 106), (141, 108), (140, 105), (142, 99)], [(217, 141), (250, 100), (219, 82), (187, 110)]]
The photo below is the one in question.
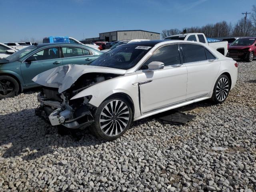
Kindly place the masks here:
[(126, 70), (93, 65), (68, 64), (47, 70), (35, 76), (32, 81), (46, 87), (59, 88), (61, 93), (72, 86), (74, 82), (86, 73), (125, 74)]

